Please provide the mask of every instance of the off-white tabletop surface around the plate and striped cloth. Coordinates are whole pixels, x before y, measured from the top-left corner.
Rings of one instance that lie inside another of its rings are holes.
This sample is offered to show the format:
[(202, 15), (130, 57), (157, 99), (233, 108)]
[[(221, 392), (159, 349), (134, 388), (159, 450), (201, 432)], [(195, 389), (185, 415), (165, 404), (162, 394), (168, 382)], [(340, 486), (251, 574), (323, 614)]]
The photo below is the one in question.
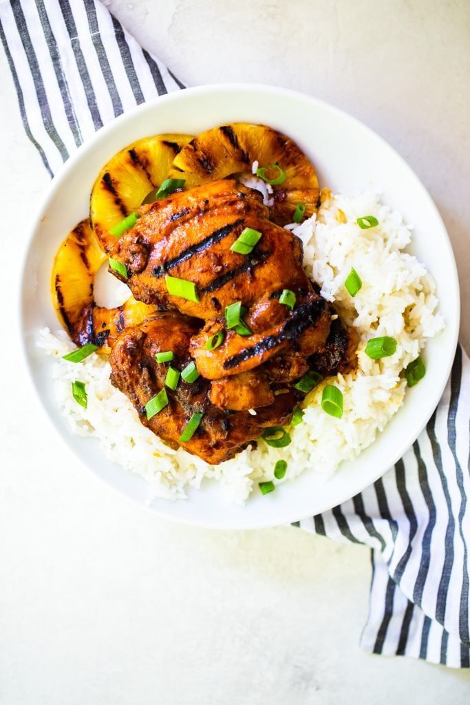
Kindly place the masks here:
[[(428, 185), (468, 271), (469, 4), (111, 6), (188, 85), (278, 83), (363, 119)], [(23, 214), (48, 179), (1, 53), (0, 87), (2, 231), (15, 243), (4, 249), (0, 346), (0, 704), (468, 702), (469, 672), (359, 651), (365, 548), (288, 527), (173, 525), (70, 457), (18, 373), (11, 338)]]

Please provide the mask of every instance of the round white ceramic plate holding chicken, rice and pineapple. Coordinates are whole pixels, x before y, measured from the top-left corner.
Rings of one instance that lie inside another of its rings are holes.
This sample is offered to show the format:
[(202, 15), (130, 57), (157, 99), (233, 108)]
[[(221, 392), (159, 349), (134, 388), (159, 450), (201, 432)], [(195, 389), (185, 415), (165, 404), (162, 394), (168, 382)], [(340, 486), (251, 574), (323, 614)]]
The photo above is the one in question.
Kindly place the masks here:
[(383, 202), (414, 225), (411, 251), (438, 284), (445, 330), (428, 343), (426, 377), (407, 392), (404, 405), (375, 443), (321, 487), (305, 472), (266, 496), (258, 492), (243, 507), (230, 505), (215, 483), (192, 491), (186, 501), (156, 500), (165, 517), (206, 527), (248, 529), (295, 521), (354, 496), (388, 470), (412, 445), (438, 404), (457, 344), (459, 286), (443, 221), (425, 188), (405, 162), (369, 128), (319, 100), (274, 87), (214, 85), (166, 95), (120, 116), (82, 145), (54, 178), (30, 233), (23, 274), (22, 329), (27, 363), (47, 414), (58, 433), (99, 477), (142, 505), (147, 485), (104, 458), (97, 442), (70, 433), (58, 410), (49, 358), (38, 355), (38, 331), (58, 329), (50, 296), (54, 253), (87, 216), (89, 193), (103, 164), (130, 142), (158, 133), (191, 133), (223, 123), (264, 123), (294, 139), (314, 163), (322, 186), (333, 191), (380, 189)]

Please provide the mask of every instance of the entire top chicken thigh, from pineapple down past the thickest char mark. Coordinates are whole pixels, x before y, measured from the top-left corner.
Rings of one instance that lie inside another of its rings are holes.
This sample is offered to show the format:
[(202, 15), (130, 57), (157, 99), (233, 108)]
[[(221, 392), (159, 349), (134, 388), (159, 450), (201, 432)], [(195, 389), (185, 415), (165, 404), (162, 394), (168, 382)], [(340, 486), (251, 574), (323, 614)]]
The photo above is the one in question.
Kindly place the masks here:
[[(321, 348), (330, 313), (302, 269), (302, 243), (266, 219), (256, 191), (221, 180), (141, 212), (112, 257), (125, 264), (135, 298), (209, 319), (190, 347), (206, 379), (247, 372), (283, 351), (307, 357)], [(230, 247), (245, 227), (262, 234), (249, 255), (240, 255)], [(194, 283), (198, 300), (169, 294), (166, 274)], [(292, 312), (278, 301), (283, 289), (296, 294)], [(209, 337), (225, 326), (225, 307), (240, 300), (252, 335), (228, 331), (219, 348), (207, 350)]]

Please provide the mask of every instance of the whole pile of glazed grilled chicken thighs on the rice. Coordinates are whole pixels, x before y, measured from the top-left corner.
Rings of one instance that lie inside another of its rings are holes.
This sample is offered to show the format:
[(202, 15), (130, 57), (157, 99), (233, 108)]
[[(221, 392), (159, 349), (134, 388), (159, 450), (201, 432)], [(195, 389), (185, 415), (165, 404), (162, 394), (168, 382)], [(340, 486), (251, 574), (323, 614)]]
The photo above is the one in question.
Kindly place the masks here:
[[(289, 423), (304, 398), (295, 381), (312, 368), (345, 371), (355, 348), (339, 319), (332, 328), (335, 310), (304, 273), (301, 241), (268, 216), (256, 190), (215, 181), (143, 206), (110, 253), (125, 264), (135, 299), (156, 311), (113, 341), (111, 381), (161, 439), (212, 464), (264, 428)], [(230, 248), (245, 228), (261, 238), (242, 255)], [(194, 284), (187, 298), (168, 292), (167, 276)], [(280, 302), (283, 290), (295, 295), (292, 307)], [(228, 329), (225, 318), (238, 302), (244, 331)], [(218, 333), (218, 345), (208, 344)], [(145, 405), (165, 386), (168, 368), (154, 356), (167, 350), (175, 369), (194, 361), (200, 376), (167, 389), (168, 405), (147, 419)], [(194, 413), (202, 414), (199, 427), (181, 442)]]

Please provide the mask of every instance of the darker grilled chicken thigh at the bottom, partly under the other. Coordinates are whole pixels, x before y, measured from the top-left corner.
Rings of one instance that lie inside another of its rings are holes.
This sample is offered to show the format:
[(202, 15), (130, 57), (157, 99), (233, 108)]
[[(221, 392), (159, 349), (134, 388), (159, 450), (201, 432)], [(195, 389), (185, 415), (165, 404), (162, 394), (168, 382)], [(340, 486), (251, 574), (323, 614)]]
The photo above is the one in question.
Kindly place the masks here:
[[(291, 390), (276, 396), (272, 404), (253, 416), (247, 411), (230, 412), (214, 406), (209, 399), (210, 383), (202, 376), (193, 384), (180, 379), (175, 391), (166, 389), (168, 405), (148, 420), (145, 405), (163, 388), (168, 370), (168, 364), (156, 362), (156, 353), (172, 350), (175, 359), (171, 365), (183, 369), (190, 362), (187, 350), (197, 324), (180, 314), (163, 313), (122, 331), (109, 357), (111, 382), (131, 400), (142, 424), (169, 446), (181, 446), (216, 465), (253, 443), (266, 427), (290, 423), (292, 410), (303, 395)], [(190, 441), (180, 443), (178, 439), (194, 412), (204, 413), (202, 422)]]

